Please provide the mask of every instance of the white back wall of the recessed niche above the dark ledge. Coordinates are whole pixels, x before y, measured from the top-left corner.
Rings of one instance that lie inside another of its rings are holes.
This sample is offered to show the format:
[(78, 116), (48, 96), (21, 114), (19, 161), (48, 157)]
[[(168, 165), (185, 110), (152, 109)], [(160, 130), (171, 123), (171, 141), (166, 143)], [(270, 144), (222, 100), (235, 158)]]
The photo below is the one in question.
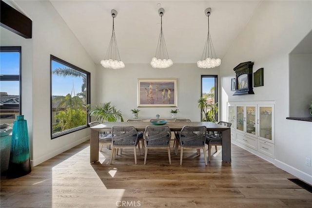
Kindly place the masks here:
[(289, 116), (311, 116), (309, 108), (312, 102), (312, 54), (292, 54), (289, 56), (289, 64)]

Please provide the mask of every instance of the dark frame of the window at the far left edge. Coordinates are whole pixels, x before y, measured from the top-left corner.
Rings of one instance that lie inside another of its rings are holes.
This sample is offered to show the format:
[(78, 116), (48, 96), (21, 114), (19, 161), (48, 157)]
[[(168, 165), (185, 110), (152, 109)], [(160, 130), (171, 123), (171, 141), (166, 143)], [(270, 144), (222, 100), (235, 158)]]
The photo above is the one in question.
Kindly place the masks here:
[[(19, 114), (22, 115), (22, 112), (21, 112), (21, 46), (0, 46), (0, 53), (1, 52), (18, 52), (20, 54), (19, 75), (1, 75), (0, 81), (19, 81)], [(7, 106), (11, 106), (11, 105), (7, 105)]]

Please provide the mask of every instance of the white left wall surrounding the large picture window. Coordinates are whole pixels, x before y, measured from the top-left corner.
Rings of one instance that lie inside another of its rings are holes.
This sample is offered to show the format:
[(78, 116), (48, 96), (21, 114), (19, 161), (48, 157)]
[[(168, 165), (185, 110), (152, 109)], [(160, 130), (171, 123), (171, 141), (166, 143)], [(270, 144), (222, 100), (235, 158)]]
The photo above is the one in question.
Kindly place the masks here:
[(51, 140), (50, 55), (91, 72), (92, 97), (96, 67), (49, 1), (16, 3), (33, 21), (33, 38), (21, 39), (1, 28), (1, 45), (22, 45), (22, 112), (29, 127), (32, 165), (36, 166), (90, 136), (90, 130), (84, 129)]

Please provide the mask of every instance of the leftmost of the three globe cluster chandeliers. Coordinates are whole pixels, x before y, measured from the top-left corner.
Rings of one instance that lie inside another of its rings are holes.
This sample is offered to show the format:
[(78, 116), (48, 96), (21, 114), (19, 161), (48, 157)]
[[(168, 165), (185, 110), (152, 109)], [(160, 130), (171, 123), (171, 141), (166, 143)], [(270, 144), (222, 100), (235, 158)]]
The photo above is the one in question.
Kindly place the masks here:
[(125, 67), (125, 64), (120, 60), (117, 40), (115, 36), (114, 18), (117, 17), (117, 11), (112, 9), (111, 15), (113, 17), (113, 32), (112, 32), (111, 41), (109, 42), (109, 46), (106, 52), (105, 59), (101, 60), (101, 65), (104, 68), (121, 69)]

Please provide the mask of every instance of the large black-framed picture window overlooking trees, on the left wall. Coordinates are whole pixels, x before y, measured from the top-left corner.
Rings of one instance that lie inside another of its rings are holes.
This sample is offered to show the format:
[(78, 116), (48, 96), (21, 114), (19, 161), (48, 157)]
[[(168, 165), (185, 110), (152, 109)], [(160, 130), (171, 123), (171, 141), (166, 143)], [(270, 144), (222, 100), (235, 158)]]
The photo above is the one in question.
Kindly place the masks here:
[(51, 55), (51, 138), (87, 128), (90, 73)]

